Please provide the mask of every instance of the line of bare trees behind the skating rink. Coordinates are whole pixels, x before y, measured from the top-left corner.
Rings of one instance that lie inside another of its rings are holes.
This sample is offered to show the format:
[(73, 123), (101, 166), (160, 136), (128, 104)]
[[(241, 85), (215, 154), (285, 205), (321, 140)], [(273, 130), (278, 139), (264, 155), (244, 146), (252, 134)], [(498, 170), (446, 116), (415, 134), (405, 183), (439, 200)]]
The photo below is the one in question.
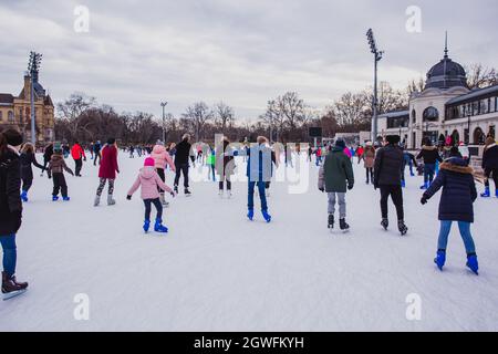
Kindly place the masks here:
[[(475, 64), (467, 73), (471, 90), (498, 84), (495, 69)], [(390, 83), (381, 82), (380, 113), (407, 110), (411, 95), (424, 86), (423, 79), (411, 81), (405, 90), (394, 90)], [(197, 142), (211, 140), (220, 133), (234, 142), (266, 135), (274, 142), (300, 143), (310, 140), (310, 127), (322, 127), (324, 136), (370, 131), (372, 103), (372, 87), (346, 92), (324, 110), (308, 105), (297, 92), (287, 92), (268, 101), (266, 112), (251, 121), (237, 118), (234, 107), (225, 102), (208, 105), (199, 101), (178, 117), (168, 114), (163, 127), (163, 119), (153, 114), (117, 113), (110, 105), (98, 104), (95, 97), (73, 93), (56, 105), (55, 136), (69, 143), (106, 140), (113, 136), (123, 144), (154, 144), (163, 138), (164, 128), (167, 142), (177, 142), (185, 133), (190, 133)]]

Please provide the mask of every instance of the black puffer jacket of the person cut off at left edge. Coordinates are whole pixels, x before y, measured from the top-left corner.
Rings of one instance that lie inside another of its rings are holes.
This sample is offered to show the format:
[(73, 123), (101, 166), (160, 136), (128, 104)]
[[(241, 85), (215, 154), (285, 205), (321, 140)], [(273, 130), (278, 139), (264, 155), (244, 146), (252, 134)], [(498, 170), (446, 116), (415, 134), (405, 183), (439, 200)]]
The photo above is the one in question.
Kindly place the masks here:
[(22, 202), (19, 155), (8, 149), (0, 155), (0, 237), (14, 235), (21, 227)]

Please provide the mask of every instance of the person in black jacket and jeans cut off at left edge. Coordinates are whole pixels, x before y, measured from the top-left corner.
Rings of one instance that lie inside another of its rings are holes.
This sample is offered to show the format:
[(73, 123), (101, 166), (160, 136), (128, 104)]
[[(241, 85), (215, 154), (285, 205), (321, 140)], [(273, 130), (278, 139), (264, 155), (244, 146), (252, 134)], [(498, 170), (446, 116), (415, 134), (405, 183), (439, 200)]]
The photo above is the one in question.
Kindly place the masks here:
[(3, 299), (21, 294), (28, 289), (27, 282), (15, 278), (15, 235), (22, 223), (21, 163), (19, 149), (22, 136), (14, 129), (0, 133), (0, 243), (3, 250), (2, 293)]

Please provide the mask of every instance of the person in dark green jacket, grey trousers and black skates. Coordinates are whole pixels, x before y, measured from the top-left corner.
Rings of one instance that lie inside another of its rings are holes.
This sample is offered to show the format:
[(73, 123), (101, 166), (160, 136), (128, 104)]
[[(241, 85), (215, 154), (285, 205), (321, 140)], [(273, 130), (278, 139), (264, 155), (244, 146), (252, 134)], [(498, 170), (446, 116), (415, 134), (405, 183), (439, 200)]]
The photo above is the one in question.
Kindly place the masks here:
[(353, 189), (354, 175), (351, 159), (344, 154), (344, 140), (338, 140), (325, 156), (325, 162), (319, 171), (319, 189), (329, 196), (329, 229), (334, 228), (335, 201), (339, 204), (339, 226), (347, 231), (350, 226), (346, 217), (346, 190)]

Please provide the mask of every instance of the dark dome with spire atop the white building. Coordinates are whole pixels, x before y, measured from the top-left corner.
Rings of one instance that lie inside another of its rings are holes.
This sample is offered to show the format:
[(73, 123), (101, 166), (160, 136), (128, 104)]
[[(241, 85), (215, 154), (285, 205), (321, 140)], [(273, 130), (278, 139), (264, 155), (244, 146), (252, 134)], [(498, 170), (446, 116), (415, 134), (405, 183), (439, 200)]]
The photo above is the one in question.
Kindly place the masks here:
[(464, 66), (449, 59), (448, 37), (446, 35), (445, 56), (428, 71), (425, 90), (448, 90), (452, 87), (468, 88), (467, 73), (465, 72)]

